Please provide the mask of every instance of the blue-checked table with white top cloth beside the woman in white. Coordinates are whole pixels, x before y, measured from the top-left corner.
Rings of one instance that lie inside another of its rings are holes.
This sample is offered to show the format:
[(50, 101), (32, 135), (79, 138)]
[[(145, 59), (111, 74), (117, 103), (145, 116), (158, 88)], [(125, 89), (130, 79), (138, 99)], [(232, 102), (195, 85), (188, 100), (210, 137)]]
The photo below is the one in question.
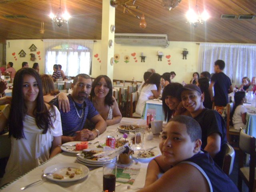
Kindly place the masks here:
[(163, 106), (163, 103), (162, 103), (161, 99), (147, 100), (145, 103), (141, 118), (147, 119), (148, 111), (150, 111), (150, 113), (152, 113), (152, 111), (154, 111), (153, 114), (155, 113), (155, 115), (156, 115), (155, 120), (165, 121), (162, 106)]

